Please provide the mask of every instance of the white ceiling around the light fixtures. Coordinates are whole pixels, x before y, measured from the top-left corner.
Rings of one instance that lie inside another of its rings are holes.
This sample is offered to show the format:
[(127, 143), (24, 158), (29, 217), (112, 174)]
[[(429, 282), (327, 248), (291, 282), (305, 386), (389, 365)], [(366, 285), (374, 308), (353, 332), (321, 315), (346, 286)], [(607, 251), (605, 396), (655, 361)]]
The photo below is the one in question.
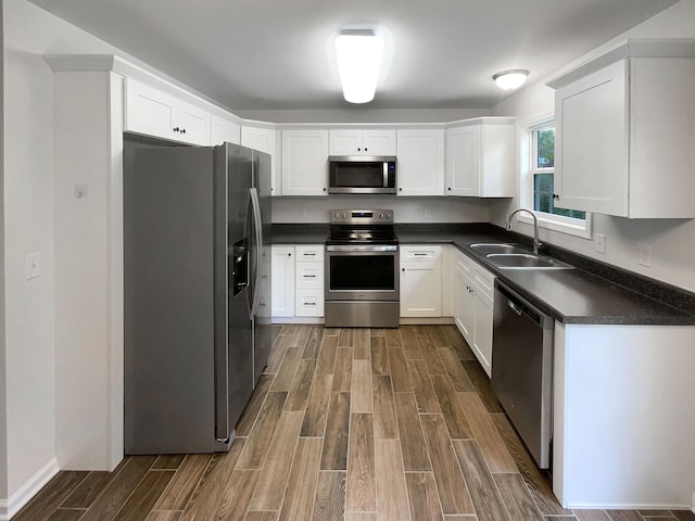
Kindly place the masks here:
[[(30, 0), (231, 110), (345, 109), (329, 41), (392, 43), (369, 109), (485, 109), (492, 75), (544, 78), (675, 0)], [(365, 106), (365, 107), (366, 107)]]

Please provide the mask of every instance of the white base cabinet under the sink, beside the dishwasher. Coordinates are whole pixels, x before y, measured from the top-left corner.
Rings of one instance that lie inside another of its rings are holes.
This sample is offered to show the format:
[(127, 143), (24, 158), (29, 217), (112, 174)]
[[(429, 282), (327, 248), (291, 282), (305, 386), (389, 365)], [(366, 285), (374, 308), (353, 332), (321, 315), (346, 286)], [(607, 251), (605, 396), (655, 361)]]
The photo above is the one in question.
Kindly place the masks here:
[(456, 327), (488, 376), (492, 374), (492, 326), (495, 276), (457, 253), (454, 265)]

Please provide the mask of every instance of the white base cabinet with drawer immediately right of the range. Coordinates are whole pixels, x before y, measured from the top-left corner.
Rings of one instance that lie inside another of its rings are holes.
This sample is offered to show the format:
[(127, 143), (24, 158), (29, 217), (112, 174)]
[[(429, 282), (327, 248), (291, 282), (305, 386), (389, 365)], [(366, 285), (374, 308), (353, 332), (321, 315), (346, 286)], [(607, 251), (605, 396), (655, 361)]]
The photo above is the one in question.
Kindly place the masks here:
[(442, 246), (401, 246), (401, 316), (442, 316)]

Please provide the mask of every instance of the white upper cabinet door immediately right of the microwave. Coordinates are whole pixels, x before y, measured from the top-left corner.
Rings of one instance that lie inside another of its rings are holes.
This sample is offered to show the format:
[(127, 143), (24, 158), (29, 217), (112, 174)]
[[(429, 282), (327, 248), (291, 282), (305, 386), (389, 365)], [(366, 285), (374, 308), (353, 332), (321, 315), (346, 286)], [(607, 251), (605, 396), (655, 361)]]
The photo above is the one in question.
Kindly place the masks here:
[(399, 130), (399, 195), (443, 195), (444, 130)]

